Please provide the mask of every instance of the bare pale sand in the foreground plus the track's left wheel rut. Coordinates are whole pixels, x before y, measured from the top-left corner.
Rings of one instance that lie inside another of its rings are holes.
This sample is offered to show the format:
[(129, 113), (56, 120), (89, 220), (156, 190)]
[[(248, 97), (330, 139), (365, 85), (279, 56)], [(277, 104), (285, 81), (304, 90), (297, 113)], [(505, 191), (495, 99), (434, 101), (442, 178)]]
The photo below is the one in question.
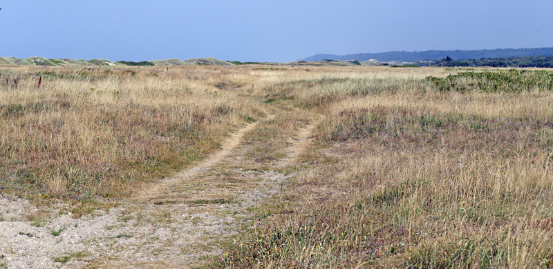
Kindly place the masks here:
[[(242, 217), (225, 217), (220, 211), (236, 211), (240, 205), (190, 206), (182, 203), (189, 195), (170, 194), (198, 175), (207, 174), (257, 124), (234, 132), (221, 143), (221, 150), (193, 168), (152, 184), (129, 203), (109, 211), (73, 219), (53, 210), (50, 220), (37, 226), (26, 217), (38, 211), (35, 206), (24, 199), (1, 197), (0, 264), (8, 268), (186, 268), (203, 256), (219, 254), (210, 245), (215, 239), (233, 235), (230, 223)], [(168, 199), (171, 202), (165, 203)], [(55, 235), (57, 231), (59, 235)], [(66, 263), (56, 262), (64, 257), (68, 257)]]

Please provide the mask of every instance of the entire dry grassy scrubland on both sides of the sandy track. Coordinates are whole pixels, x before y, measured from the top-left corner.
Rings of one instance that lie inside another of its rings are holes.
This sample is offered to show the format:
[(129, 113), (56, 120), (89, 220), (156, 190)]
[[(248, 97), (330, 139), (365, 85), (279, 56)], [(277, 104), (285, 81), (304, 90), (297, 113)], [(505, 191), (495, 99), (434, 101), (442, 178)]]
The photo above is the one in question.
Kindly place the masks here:
[[(263, 120), (234, 166), (286, 179), (207, 266), (553, 266), (550, 71), (0, 70), (2, 192), (86, 205), (77, 217)], [(301, 130), (311, 140), (290, 158)]]

